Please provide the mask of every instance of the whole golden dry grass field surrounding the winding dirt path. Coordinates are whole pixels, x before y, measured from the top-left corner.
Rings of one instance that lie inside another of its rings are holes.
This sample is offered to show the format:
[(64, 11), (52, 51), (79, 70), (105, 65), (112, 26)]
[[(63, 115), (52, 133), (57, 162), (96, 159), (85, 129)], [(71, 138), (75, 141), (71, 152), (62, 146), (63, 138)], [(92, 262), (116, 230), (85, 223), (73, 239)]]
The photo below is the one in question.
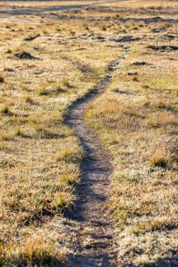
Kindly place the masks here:
[(63, 214), (84, 149), (64, 117), (124, 48), (109, 88), (85, 111), (113, 156), (117, 262), (177, 266), (178, 3), (93, 2), (1, 1), (22, 14), (0, 13), (0, 266), (68, 264), (77, 229)]

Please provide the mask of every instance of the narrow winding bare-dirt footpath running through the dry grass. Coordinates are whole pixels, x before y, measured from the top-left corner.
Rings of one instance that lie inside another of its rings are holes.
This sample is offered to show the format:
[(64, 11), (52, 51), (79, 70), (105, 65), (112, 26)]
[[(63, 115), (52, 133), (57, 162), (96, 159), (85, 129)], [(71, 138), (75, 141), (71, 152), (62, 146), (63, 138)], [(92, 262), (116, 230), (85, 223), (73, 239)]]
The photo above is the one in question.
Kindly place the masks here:
[(110, 63), (106, 76), (87, 96), (77, 100), (65, 117), (65, 124), (74, 130), (85, 150), (82, 181), (75, 202), (76, 210), (68, 213), (68, 218), (76, 221), (80, 229), (77, 233), (76, 254), (70, 259), (72, 267), (117, 266), (113, 252), (112, 222), (105, 209), (112, 172), (111, 157), (85, 124), (84, 111), (96, 96), (108, 89), (112, 72), (119, 67), (127, 54), (128, 48), (125, 48), (124, 56)]

